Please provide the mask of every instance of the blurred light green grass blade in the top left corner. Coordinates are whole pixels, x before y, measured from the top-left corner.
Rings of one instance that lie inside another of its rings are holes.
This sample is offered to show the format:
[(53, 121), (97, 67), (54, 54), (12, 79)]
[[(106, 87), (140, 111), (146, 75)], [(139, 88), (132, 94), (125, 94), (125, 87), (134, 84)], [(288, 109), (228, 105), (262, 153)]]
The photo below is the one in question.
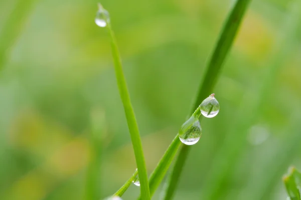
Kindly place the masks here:
[(0, 69), (5, 64), (8, 49), (14, 44), (26, 22), (35, 0), (18, 0), (0, 30)]

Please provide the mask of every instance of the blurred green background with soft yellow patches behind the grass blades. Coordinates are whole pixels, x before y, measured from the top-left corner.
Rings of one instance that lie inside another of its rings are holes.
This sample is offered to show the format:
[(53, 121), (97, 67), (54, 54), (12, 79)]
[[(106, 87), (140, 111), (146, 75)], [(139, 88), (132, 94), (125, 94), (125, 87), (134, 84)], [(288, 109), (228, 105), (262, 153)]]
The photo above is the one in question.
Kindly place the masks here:
[[(234, 0), (103, 0), (148, 173), (181, 124)], [(100, 197), (135, 160), (96, 0), (0, 1), (0, 199), (85, 199), (91, 132)], [(253, 0), (174, 199), (285, 199), (301, 168), (301, 3)], [(208, 94), (209, 95), (209, 94)], [(159, 199), (160, 190), (153, 199)], [(123, 199), (135, 199), (131, 185)]]

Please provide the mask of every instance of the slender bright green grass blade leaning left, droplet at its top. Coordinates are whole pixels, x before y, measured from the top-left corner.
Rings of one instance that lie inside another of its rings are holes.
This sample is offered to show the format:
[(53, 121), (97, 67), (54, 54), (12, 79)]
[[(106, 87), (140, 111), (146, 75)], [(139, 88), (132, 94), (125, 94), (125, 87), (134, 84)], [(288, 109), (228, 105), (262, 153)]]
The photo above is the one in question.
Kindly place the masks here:
[[(99, 9), (103, 9), (102, 6), (99, 4)], [(104, 16), (106, 17), (106, 16)], [(119, 54), (117, 42), (115, 39), (114, 32), (111, 28), (111, 24), (109, 20), (107, 20), (107, 29), (109, 31), (109, 35), (111, 38), (111, 47), (112, 47), (112, 55), (114, 60), (114, 69), (115, 69), (115, 75), (117, 79), (117, 85), (119, 89), (119, 94), (121, 97), (121, 101), (123, 104), (127, 125), (134, 149), (136, 164), (138, 168), (138, 174), (139, 174), (139, 180), (140, 180), (140, 190), (141, 190), (141, 196), (142, 199), (148, 200), (150, 199), (149, 194), (149, 187), (148, 187), (148, 179), (147, 179), (147, 172), (146, 172), (146, 166), (143, 156), (143, 150), (142, 150), (142, 144), (140, 139), (140, 134), (138, 130), (138, 125), (136, 122), (135, 114), (133, 107), (130, 102), (129, 98), (129, 92), (127, 89), (125, 77), (122, 70), (122, 64), (121, 64), (121, 57)]]

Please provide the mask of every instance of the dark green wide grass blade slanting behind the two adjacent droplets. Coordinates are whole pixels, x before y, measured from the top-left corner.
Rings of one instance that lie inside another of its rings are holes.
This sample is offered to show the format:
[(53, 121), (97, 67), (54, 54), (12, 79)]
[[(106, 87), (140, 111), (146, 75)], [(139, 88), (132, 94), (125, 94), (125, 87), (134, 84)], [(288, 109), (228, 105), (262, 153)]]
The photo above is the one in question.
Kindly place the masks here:
[[(191, 108), (191, 113), (196, 109), (196, 107), (198, 107), (202, 100), (212, 92), (219, 77), (222, 64), (232, 46), (238, 27), (249, 2), (250, 0), (237, 0), (227, 20), (225, 21), (220, 37), (207, 64), (207, 69), (200, 84), (195, 103)], [(181, 175), (181, 171), (184, 167), (186, 157), (188, 156), (188, 148), (191, 148), (191, 146), (183, 147), (179, 152), (180, 157), (177, 158), (171, 173), (171, 177), (168, 179), (169, 182), (165, 191), (165, 200), (172, 199)]]

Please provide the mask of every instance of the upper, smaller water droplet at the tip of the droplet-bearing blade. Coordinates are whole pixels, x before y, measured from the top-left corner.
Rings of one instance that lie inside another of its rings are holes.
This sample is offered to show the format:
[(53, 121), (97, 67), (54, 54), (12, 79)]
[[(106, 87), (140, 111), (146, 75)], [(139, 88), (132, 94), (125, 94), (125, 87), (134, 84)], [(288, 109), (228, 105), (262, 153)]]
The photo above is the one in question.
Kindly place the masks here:
[(219, 103), (214, 97), (214, 93), (205, 98), (200, 105), (201, 113), (206, 117), (214, 117), (219, 112)]

